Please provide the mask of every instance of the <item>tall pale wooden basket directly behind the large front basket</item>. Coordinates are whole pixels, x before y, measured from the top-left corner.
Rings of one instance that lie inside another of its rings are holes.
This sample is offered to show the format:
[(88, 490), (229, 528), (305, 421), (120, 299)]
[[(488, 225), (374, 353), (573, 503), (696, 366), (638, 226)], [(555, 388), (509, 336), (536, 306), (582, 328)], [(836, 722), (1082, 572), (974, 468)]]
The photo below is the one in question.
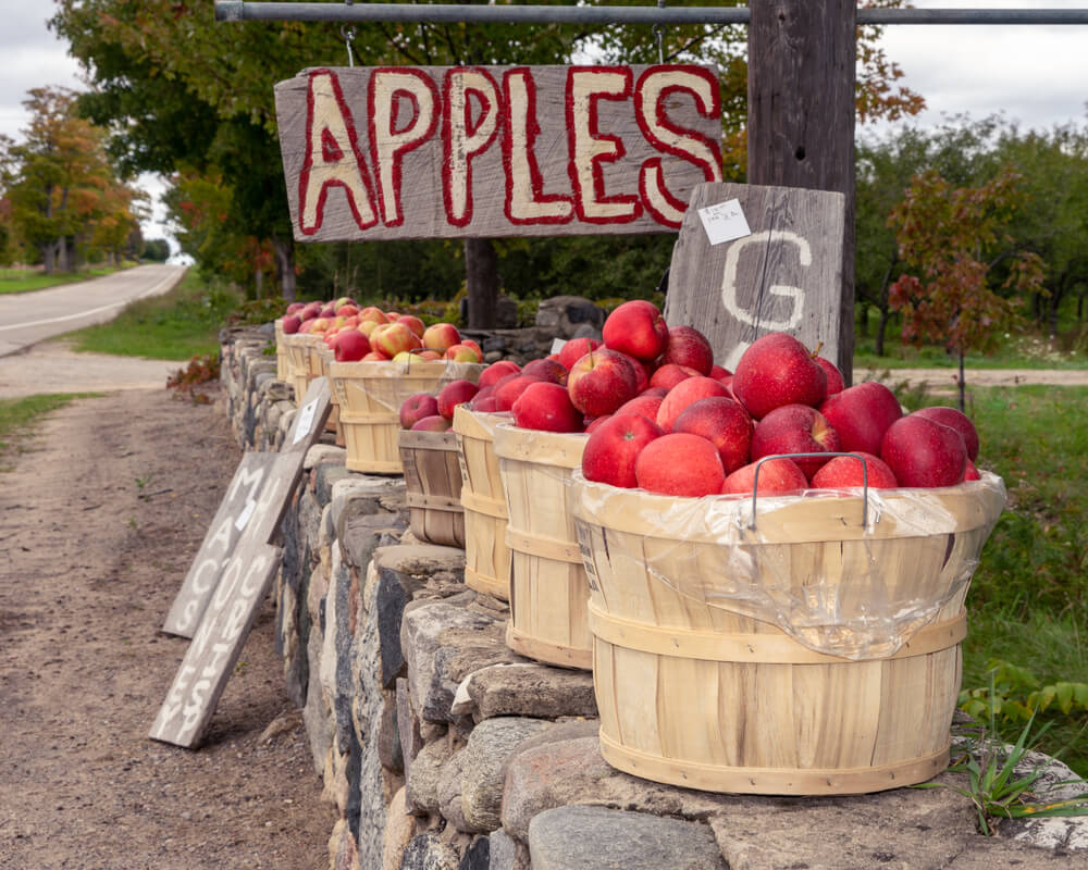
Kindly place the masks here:
[(593, 667), (590, 587), (570, 480), (588, 438), (506, 424), (495, 428), (510, 550), (506, 644), (537, 661), (585, 670)]

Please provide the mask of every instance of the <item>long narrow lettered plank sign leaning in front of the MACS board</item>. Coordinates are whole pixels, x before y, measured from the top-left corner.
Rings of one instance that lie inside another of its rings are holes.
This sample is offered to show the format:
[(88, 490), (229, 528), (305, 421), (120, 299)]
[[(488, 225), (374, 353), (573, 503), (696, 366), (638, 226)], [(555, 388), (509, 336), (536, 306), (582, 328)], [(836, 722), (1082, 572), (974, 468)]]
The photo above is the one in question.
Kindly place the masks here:
[(331, 398), (327, 378), (310, 382), (159, 708), (152, 739), (191, 748), (203, 736), (280, 567), (280, 549), (270, 542), (302, 476), (306, 451), (324, 432)]

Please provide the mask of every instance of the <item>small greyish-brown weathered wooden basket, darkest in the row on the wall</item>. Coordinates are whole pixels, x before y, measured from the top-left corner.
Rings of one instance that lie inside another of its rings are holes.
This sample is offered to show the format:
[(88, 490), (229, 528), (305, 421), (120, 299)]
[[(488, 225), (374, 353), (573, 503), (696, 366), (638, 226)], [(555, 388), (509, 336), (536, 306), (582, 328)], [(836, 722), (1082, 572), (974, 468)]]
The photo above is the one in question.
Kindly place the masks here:
[(465, 548), (461, 465), (454, 432), (400, 430), (408, 524), (420, 540)]

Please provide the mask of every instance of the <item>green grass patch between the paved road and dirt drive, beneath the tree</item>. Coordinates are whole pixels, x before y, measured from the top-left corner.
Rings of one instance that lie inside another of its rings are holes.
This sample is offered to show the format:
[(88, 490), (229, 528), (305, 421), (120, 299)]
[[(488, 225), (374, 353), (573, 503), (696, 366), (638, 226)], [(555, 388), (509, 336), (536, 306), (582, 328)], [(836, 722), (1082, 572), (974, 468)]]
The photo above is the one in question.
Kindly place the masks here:
[(240, 297), (209, 285), (195, 270), (170, 293), (126, 307), (115, 320), (71, 333), (79, 351), (160, 360), (189, 360), (219, 351), (219, 331)]

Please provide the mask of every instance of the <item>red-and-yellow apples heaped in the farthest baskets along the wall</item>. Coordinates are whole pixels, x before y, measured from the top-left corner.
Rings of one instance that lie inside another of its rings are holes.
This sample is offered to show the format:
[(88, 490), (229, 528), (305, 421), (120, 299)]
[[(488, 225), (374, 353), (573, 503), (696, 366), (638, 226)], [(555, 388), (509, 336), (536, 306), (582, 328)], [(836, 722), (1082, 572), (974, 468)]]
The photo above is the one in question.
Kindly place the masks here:
[(337, 362), (405, 362), (411, 359), (482, 363), (483, 352), (452, 323), (425, 325), (415, 314), (332, 302), (293, 302), (280, 321), (285, 335), (319, 335)]

